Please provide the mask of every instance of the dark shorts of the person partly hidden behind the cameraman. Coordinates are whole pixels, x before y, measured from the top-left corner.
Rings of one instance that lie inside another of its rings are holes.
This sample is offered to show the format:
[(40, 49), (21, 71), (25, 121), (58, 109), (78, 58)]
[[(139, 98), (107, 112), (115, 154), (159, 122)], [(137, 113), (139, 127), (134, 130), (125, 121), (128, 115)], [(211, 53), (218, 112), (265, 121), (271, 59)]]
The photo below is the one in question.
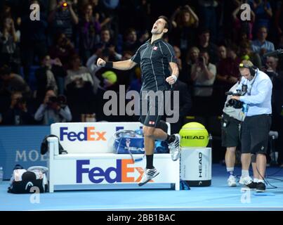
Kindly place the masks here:
[(223, 147), (237, 147), (239, 145), (240, 127), (241, 122), (239, 120), (223, 113), (221, 120), (221, 140)]

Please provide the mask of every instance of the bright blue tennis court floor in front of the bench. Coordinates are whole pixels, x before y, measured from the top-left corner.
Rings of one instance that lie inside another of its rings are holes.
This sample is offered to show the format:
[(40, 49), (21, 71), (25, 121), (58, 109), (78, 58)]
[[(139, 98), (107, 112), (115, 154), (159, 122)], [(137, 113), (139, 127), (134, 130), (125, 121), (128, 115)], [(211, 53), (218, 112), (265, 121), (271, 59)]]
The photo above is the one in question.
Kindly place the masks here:
[[(236, 168), (236, 174), (240, 168)], [(276, 174), (275, 174), (276, 173)], [(269, 167), (270, 184), (266, 193), (241, 192), (227, 186), (225, 167), (213, 165), (212, 185), (190, 191), (170, 189), (57, 191), (39, 196), (7, 193), (8, 181), (0, 185), (0, 210), (283, 210), (283, 169)], [(272, 175), (274, 174), (274, 175)], [(272, 176), (271, 176), (272, 175)], [(279, 180), (281, 179), (281, 181)]]

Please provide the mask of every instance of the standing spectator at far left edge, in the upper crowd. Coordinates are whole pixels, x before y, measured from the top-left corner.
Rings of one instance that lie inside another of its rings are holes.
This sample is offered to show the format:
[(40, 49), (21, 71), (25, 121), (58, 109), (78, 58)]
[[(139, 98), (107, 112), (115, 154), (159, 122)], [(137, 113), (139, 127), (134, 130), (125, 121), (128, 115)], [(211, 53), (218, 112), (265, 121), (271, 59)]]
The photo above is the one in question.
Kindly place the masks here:
[(0, 61), (11, 65), (13, 72), (20, 72), (20, 49), (12, 18), (4, 18), (0, 32)]

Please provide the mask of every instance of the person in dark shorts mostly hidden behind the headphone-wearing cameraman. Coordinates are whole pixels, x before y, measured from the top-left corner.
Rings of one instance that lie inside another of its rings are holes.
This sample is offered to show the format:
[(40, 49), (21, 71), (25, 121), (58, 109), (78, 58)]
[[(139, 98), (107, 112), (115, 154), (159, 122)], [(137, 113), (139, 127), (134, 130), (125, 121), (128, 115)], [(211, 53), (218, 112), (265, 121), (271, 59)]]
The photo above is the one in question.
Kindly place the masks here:
[(229, 174), (228, 186), (230, 187), (237, 186), (234, 174), (235, 156), (240, 141), (241, 123), (245, 117), (242, 107), (235, 104), (235, 100), (231, 99), (231, 94), (236, 91), (238, 86), (239, 82), (226, 93), (228, 97), (223, 108), (221, 122), (221, 140), (222, 146), (226, 148), (225, 164)]

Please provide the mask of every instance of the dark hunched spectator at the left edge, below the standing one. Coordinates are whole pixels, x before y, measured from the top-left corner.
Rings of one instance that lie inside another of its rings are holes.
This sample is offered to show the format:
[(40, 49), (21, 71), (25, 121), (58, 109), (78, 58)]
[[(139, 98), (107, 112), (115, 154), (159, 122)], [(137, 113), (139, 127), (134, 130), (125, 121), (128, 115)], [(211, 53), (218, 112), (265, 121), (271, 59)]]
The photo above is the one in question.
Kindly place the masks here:
[(20, 75), (11, 72), (8, 65), (3, 65), (0, 68), (0, 79), (2, 81), (0, 93), (11, 95), (13, 91), (20, 91), (25, 98), (30, 96), (30, 89), (25, 80)]

